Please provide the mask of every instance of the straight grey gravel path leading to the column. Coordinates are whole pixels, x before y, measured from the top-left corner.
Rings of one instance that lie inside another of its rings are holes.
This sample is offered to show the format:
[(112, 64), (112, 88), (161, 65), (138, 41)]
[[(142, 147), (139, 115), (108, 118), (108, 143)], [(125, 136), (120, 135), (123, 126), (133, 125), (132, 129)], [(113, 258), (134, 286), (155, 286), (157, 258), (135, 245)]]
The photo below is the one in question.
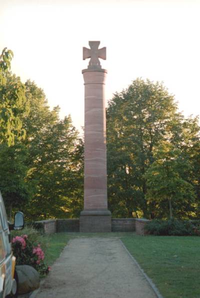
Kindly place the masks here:
[(154, 298), (154, 291), (117, 238), (74, 238), (36, 298)]

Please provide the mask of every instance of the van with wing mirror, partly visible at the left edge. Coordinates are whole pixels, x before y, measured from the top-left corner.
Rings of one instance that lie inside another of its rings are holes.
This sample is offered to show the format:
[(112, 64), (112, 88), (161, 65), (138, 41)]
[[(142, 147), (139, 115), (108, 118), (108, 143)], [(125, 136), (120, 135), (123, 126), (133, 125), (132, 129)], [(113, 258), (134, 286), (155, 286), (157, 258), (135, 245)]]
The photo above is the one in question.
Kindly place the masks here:
[[(13, 229), (22, 229), (23, 213), (16, 212)], [(18, 279), (15, 272), (15, 256), (12, 254), (11, 237), (3, 199), (0, 193), (0, 298), (17, 297)]]

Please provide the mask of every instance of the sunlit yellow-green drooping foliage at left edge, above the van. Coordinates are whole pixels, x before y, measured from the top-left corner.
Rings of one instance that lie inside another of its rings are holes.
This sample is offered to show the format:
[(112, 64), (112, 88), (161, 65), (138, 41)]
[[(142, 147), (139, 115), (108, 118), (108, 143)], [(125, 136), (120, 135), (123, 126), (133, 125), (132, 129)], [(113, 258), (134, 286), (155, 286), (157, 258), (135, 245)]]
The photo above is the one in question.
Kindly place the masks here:
[(25, 136), (22, 118), (28, 114), (25, 88), (20, 78), (9, 72), (13, 53), (6, 48), (0, 55), (0, 143), (14, 144)]

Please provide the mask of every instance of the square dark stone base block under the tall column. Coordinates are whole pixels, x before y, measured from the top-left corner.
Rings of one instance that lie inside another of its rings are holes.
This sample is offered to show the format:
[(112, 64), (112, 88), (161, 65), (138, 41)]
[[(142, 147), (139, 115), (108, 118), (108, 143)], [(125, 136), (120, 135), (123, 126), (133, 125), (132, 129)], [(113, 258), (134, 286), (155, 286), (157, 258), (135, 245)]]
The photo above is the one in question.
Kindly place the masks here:
[(103, 211), (82, 211), (79, 218), (80, 232), (111, 232), (111, 213)]

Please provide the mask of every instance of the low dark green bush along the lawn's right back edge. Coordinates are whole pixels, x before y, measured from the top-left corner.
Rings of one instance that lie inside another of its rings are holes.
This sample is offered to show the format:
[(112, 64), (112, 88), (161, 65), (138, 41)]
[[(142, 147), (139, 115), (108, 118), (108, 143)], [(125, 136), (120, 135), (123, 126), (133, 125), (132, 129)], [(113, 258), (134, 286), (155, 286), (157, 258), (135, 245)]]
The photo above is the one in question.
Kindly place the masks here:
[(200, 221), (154, 219), (145, 225), (145, 229), (152, 235), (160, 236), (200, 235)]

